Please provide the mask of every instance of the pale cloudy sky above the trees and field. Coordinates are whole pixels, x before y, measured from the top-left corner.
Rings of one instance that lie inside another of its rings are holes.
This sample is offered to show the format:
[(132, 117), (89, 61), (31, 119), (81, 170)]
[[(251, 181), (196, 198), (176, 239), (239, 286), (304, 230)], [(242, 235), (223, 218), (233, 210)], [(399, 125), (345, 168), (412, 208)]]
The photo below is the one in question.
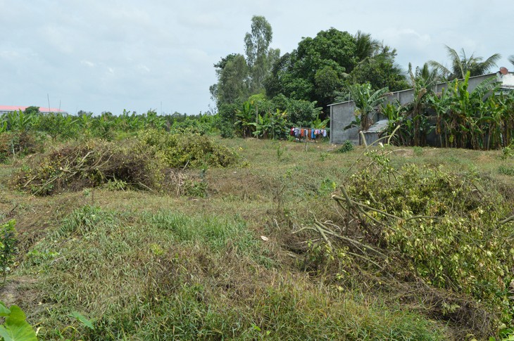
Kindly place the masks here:
[(0, 105), (70, 113), (206, 112), (213, 64), (244, 52), (252, 15), (282, 54), (335, 27), (396, 48), (405, 70), (445, 63), (445, 44), (514, 70), (513, 0), (0, 0), (0, 13)]

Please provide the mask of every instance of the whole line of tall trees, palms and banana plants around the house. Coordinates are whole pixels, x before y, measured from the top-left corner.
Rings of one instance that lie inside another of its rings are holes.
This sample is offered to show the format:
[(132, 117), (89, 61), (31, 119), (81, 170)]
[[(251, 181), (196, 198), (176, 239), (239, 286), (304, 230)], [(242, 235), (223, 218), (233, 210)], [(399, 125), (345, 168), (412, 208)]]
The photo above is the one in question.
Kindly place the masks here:
[[(396, 49), (361, 31), (350, 34), (332, 27), (313, 38), (301, 39), (296, 49), (283, 55), (278, 49), (270, 48), (271, 42), (270, 23), (263, 16), (253, 16), (251, 32), (244, 37), (244, 54), (231, 53), (215, 63), (218, 82), (210, 90), (218, 108), (222, 136), (277, 137), (287, 134), (287, 128), (292, 125), (325, 126), (327, 105), (353, 100), (358, 103), (355, 122), (358, 127), (369, 127), (370, 111), (385, 110), (394, 124), (403, 125), (401, 143), (420, 146), (434, 129), (445, 136), (444, 141), (441, 137), (441, 146), (498, 148), (509, 142), (506, 131), (512, 129), (513, 112), (508, 94), (500, 96), (494, 86), (482, 86), (486, 93), (472, 97), (482, 95), (482, 99), (490, 99), (482, 104), (473, 102), (474, 105), (466, 107), (470, 108), (468, 111), (462, 112), (451, 106), (458, 99), (447, 99), (460, 96), (457, 90), (433, 93), (434, 85), (439, 82), (487, 74), (501, 58), (498, 53), (484, 59), (474, 54), (466, 56), (463, 49), (458, 53), (446, 46), (449, 67), (429, 60), (415, 70), (409, 65), (408, 72), (404, 72), (396, 63)], [(509, 60), (514, 65), (514, 56)], [(453, 88), (467, 88), (467, 82), (456, 82)], [(414, 89), (413, 103), (402, 108), (397, 103), (379, 106), (384, 96), (403, 89)], [(491, 96), (491, 91), (496, 91), (495, 96)], [(437, 107), (441, 96), (443, 102), (450, 103), (445, 112), (440, 105)], [(499, 105), (503, 105), (501, 115), (492, 110)], [(391, 113), (395, 110), (396, 116)], [(458, 122), (462, 121), (456, 118), (458, 115), (468, 117), (467, 123)], [(437, 124), (429, 118), (434, 116)], [(473, 120), (479, 123), (470, 123), (469, 117), (475, 117)], [(498, 117), (506, 118), (497, 127), (491, 127)], [(280, 124), (283, 127), (277, 127)], [(268, 134), (263, 134), (266, 129)], [(473, 136), (462, 137), (468, 134)], [(480, 134), (482, 142), (478, 141)]]

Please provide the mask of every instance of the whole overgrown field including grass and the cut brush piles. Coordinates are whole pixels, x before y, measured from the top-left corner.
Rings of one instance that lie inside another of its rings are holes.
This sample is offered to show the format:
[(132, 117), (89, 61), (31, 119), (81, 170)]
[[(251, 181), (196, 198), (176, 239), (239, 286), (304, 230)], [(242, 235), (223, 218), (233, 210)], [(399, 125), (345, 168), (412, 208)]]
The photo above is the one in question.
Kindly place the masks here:
[(0, 301), (42, 340), (514, 327), (509, 153), (178, 136), (55, 142), (1, 165), (18, 252)]

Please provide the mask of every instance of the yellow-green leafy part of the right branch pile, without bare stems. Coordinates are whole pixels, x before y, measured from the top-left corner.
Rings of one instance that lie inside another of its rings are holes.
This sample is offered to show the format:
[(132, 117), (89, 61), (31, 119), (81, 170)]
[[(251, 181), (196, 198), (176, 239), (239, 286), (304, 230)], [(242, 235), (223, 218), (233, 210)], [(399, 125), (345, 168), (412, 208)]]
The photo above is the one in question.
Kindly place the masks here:
[(514, 240), (506, 199), (493, 191), (479, 195), (487, 184), (473, 173), (416, 165), (396, 170), (387, 154), (368, 155), (375, 168), (351, 176), (348, 187), (353, 200), (375, 210), (364, 218), (367, 233), (399, 252), (426, 283), (470, 295), (498, 319), (510, 319)]

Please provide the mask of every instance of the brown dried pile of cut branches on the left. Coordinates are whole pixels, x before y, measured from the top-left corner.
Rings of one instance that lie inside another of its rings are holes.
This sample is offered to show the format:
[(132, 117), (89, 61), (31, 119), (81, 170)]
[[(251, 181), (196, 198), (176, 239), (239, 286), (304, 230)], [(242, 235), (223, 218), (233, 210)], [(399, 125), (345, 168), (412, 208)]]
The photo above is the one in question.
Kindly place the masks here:
[(15, 177), (15, 184), (35, 195), (77, 191), (109, 181), (132, 188), (158, 190), (165, 174), (165, 163), (154, 156), (137, 141), (71, 143), (28, 160), (29, 164)]

